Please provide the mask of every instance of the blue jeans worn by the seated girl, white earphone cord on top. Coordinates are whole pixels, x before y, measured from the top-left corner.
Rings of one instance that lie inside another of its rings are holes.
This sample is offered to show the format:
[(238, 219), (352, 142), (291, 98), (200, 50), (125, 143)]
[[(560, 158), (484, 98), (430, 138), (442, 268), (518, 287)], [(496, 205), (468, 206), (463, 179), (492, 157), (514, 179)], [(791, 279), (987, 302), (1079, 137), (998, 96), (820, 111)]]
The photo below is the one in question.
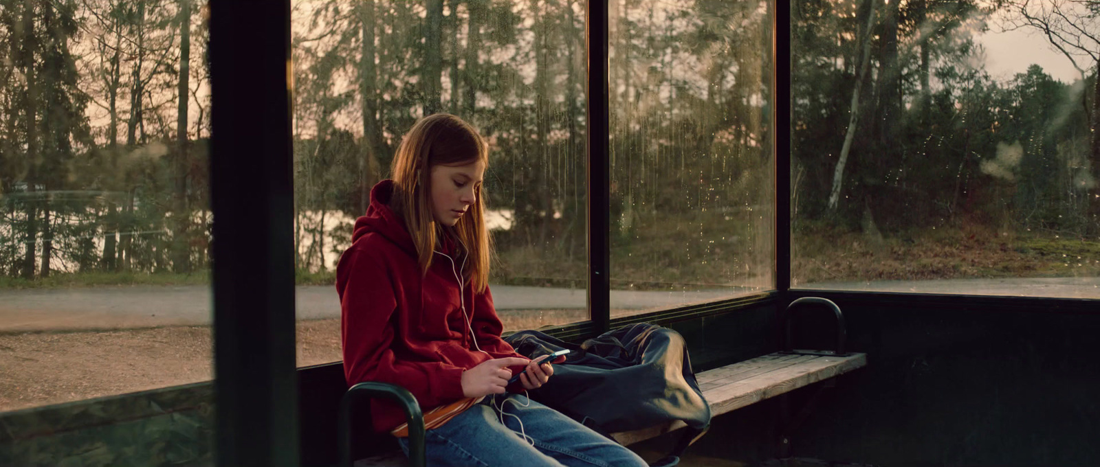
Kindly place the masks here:
[[(502, 405), (506, 413), (504, 424), (497, 410)], [(522, 433), (531, 438), (534, 446), (520, 434), (519, 421), (507, 414), (522, 421)], [(397, 441), (408, 456), (408, 438)], [(425, 445), (428, 465), (432, 467), (647, 466), (630, 449), (557, 410), (515, 393), (486, 397), (443, 426), (429, 430)]]

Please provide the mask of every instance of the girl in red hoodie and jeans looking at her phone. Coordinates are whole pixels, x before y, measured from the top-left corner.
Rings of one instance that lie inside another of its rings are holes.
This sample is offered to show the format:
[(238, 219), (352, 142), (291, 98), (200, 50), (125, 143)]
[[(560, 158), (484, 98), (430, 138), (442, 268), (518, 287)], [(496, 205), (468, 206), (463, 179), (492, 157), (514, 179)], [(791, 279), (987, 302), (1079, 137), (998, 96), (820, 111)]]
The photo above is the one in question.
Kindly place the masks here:
[[(454, 115), (426, 116), (405, 135), (394, 178), (371, 190), (337, 268), (348, 383), (385, 381), (413, 392), (432, 466), (645, 466), (526, 397), (553, 367), (501, 338), (481, 189), (487, 164), (485, 142)], [(408, 455), (400, 409), (373, 401), (372, 416)]]

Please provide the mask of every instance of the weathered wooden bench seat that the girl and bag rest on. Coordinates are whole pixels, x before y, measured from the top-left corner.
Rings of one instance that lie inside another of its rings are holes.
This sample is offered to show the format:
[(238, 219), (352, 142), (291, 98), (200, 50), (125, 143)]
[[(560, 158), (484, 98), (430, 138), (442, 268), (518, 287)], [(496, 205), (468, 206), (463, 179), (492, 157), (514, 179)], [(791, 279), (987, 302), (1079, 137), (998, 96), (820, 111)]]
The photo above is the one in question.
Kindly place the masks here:
[[(777, 352), (695, 375), (700, 389), (703, 390), (703, 398), (711, 404), (711, 415), (718, 416), (867, 365), (866, 354), (831, 356), (820, 352)], [(683, 422), (676, 421), (645, 430), (614, 433), (612, 436), (626, 446), (684, 426)], [(356, 467), (396, 467), (407, 464), (408, 459), (400, 452), (355, 462)]]

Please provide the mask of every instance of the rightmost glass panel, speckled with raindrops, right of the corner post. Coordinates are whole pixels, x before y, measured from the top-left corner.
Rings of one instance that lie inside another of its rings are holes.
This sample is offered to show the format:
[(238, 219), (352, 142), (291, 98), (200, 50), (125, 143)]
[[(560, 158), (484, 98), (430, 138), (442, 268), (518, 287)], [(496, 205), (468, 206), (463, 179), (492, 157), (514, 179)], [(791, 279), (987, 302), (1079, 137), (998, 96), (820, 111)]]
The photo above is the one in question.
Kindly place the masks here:
[(791, 11), (794, 287), (1100, 298), (1094, 10)]

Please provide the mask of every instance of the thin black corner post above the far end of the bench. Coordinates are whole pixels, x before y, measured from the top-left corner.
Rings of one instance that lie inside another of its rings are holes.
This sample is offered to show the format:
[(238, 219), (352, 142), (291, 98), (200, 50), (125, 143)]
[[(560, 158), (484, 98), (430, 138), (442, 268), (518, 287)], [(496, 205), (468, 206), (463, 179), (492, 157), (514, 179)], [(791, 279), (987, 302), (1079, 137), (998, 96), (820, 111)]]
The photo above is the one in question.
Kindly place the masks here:
[(776, 148), (776, 290), (791, 288), (791, 0), (772, 0), (772, 138)]

